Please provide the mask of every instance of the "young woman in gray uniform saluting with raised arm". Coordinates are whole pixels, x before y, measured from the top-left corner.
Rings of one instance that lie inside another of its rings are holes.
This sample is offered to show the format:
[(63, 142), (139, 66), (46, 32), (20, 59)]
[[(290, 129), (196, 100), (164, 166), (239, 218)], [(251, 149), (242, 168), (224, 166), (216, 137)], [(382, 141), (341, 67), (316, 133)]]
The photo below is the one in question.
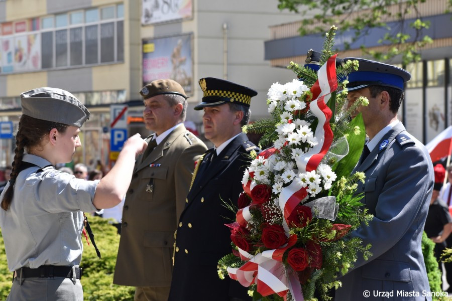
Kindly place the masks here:
[(132, 136), (102, 180), (76, 179), (55, 165), (72, 161), (89, 111), (61, 89), (38, 88), (21, 98), (13, 171), (0, 196), (0, 227), (14, 272), (7, 300), (83, 300), (83, 211), (121, 202), (147, 143)]

